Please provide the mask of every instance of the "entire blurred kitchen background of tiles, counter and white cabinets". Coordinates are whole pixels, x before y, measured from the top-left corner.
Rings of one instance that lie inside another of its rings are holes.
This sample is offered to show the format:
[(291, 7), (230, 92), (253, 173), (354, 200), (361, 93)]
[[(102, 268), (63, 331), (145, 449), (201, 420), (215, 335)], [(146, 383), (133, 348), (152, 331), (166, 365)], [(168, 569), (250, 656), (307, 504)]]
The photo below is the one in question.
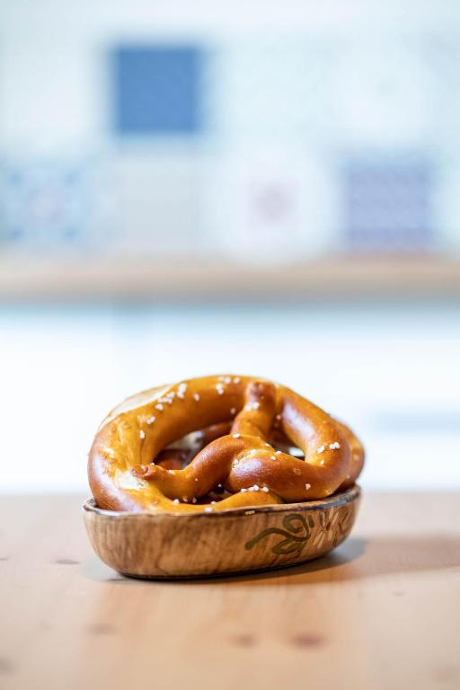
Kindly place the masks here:
[(459, 122), (457, 0), (0, 0), (1, 489), (227, 372), (458, 488)]

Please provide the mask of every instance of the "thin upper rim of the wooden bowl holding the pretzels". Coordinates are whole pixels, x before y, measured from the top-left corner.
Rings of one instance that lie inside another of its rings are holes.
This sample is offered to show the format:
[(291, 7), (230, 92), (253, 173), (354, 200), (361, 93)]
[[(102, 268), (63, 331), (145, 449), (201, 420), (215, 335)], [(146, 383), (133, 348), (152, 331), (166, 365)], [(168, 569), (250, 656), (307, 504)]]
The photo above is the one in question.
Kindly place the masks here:
[(255, 513), (290, 513), (293, 510), (296, 512), (308, 512), (315, 510), (324, 510), (336, 508), (338, 506), (346, 505), (354, 500), (358, 500), (361, 496), (361, 489), (358, 484), (353, 484), (345, 491), (334, 493), (326, 499), (307, 500), (302, 503), (274, 503), (272, 505), (263, 506), (244, 506), (243, 508), (227, 508), (219, 510), (215, 513), (182, 513), (174, 510), (164, 510), (158, 513), (150, 513), (147, 511), (130, 512), (123, 510), (106, 510), (99, 508), (93, 496), (86, 499), (82, 506), (84, 513), (94, 513), (103, 517), (126, 518), (126, 519), (155, 519), (158, 517), (197, 517), (199, 519), (215, 519), (217, 517), (237, 517), (250, 516)]

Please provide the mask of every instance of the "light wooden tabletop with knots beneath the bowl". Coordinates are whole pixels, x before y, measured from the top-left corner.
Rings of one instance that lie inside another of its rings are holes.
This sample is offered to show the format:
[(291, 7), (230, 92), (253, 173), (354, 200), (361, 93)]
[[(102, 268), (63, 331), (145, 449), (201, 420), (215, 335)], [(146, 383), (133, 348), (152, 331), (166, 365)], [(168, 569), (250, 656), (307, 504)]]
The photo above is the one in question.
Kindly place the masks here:
[(0, 499), (4, 690), (460, 687), (458, 494), (367, 494), (329, 557), (185, 582), (110, 571), (80, 503)]

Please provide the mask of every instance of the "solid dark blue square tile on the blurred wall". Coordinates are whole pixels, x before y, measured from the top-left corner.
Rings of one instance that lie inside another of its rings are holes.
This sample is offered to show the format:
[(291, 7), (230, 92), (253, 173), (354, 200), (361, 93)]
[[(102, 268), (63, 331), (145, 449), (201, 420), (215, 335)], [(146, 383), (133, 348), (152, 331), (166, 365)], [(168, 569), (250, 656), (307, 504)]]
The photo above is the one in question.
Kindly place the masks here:
[(201, 129), (202, 55), (193, 46), (122, 46), (113, 55), (119, 135), (194, 134)]

